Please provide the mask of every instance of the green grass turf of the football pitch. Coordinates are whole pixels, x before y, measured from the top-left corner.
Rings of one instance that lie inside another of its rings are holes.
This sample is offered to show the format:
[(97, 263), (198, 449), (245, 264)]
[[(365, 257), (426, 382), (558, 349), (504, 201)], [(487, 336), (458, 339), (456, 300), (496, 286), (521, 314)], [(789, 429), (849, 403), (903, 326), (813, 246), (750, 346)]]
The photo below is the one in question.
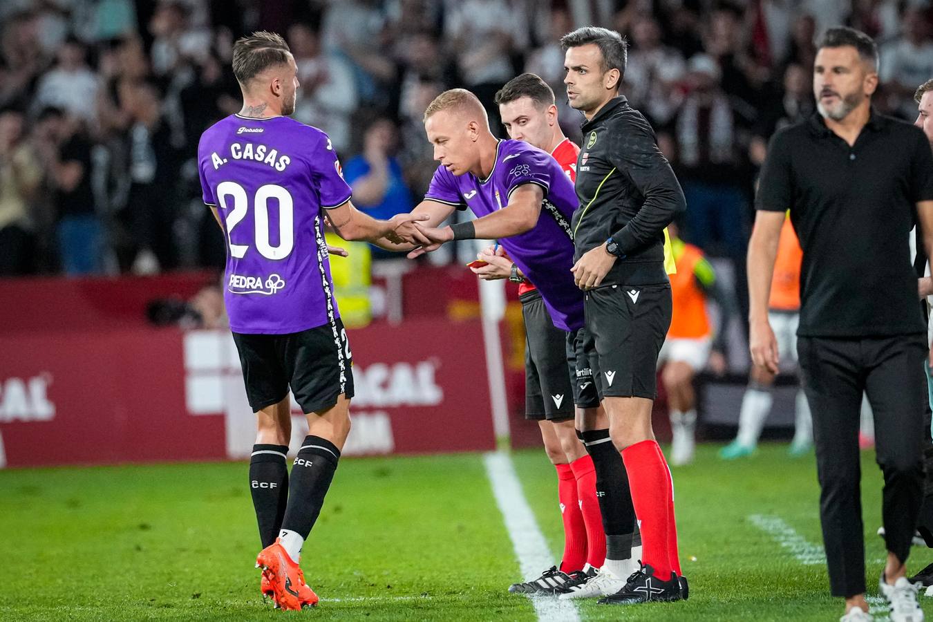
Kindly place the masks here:
[[(782, 518), (820, 544), (813, 459), (791, 461), (773, 446), (727, 464), (716, 449), (674, 471), (690, 600), (580, 602), (583, 619), (838, 618), (825, 568), (801, 565), (747, 518)], [(553, 468), (543, 451), (513, 458), (557, 555)], [(884, 551), (870, 454), (863, 471), (871, 586)], [(505, 590), (518, 561), (478, 455), (342, 461), (304, 550), (324, 601), (299, 614), (258, 598), (245, 482), (244, 463), (0, 471), (0, 619), (535, 619), (527, 599)], [(914, 551), (915, 567), (933, 560)]]

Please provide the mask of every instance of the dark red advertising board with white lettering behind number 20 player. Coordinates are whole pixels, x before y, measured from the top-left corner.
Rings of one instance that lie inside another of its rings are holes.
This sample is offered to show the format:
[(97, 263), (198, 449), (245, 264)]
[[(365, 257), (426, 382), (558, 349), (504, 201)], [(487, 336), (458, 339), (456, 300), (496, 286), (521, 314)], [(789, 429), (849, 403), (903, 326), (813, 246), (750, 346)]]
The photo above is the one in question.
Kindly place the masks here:
[[(346, 453), (494, 449), (479, 321), (410, 321), (349, 338)], [(229, 332), (0, 334), (0, 352), (0, 466), (218, 460), (252, 447)]]

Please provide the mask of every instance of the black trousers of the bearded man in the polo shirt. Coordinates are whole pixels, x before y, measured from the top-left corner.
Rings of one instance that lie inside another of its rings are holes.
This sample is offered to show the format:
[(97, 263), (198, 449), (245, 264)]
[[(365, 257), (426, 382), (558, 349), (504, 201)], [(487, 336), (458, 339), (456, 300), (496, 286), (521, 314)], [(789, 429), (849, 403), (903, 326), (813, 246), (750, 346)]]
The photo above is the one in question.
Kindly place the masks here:
[(814, 420), (820, 521), (833, 596), (865, 592), (859, 480), (859, 407), (874, 411), (876, 460), (884, 473), (887, 549), (907, 560), (924, 485), (924, 335), (797, 341)]

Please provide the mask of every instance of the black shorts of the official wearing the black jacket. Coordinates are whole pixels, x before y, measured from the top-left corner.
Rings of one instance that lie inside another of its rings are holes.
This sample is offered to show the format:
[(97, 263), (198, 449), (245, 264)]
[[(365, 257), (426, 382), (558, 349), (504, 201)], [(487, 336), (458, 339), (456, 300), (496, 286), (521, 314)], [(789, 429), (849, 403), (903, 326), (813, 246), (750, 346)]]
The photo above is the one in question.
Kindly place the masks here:
[(671, 326), (671, 285), (606, 285), (584, 297), (587, 353), (600, 397), (657, 394), (658, 352)]

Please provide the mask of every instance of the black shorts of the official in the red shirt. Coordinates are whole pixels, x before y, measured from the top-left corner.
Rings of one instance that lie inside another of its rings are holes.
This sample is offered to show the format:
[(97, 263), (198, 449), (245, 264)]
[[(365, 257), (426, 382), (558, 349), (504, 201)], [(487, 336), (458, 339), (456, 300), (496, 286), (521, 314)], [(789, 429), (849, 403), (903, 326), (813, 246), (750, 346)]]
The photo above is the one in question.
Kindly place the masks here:
[(537, 291), (522, 294), (525, 325), (525, 419), (564, 422), (574, 418), (574, 391), (564, 342)]

